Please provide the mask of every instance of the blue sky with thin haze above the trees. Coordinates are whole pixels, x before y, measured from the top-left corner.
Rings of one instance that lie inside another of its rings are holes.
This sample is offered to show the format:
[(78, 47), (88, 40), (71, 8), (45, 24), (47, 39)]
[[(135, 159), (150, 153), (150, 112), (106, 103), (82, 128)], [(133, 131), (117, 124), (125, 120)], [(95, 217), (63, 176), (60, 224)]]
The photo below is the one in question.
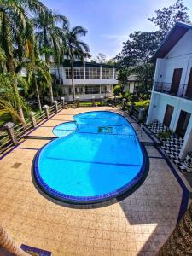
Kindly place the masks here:
[[(87, 30), (82, 38), (90, 46), (90, 54), (112, 58), (122, 49), (122, 43), (134, 31), (155, 30), (147, 20), (176, 0), (43, 0), (55, 12), (66, 15), (71, 26), (81, 25)], [(192, 1), (184, 0), (192, 16)]]

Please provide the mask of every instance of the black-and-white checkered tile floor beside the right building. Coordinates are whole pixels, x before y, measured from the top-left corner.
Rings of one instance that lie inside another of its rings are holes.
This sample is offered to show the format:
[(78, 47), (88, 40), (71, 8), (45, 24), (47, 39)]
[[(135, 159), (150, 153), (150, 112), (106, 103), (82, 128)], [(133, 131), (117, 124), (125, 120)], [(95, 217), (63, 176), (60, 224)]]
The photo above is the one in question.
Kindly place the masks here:
[[(161, 124), (158, 120), (155, 120), (148, 125), (148, 129), (152, 131), (156, 137), (158, 137), (160, 132), (168, 131), (166, 125)], [(171, 137), (161, 139), (161, 141), (163, 144), (160, 148), (163, 149), (164, 153), (172, 159), (181, 172), (188, 172), (183, 162), (179, 160), (178, 157), (183, 146), (183, 138), (178, 137), (176, 134), (172, 134)]]

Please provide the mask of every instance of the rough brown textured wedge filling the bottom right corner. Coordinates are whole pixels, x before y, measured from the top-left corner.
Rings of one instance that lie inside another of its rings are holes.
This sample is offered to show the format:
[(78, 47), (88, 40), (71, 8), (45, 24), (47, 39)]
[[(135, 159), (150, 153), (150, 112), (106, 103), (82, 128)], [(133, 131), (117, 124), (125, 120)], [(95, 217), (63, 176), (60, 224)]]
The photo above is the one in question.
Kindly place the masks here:
[(156, 256), (192, 255), (192, 203)]

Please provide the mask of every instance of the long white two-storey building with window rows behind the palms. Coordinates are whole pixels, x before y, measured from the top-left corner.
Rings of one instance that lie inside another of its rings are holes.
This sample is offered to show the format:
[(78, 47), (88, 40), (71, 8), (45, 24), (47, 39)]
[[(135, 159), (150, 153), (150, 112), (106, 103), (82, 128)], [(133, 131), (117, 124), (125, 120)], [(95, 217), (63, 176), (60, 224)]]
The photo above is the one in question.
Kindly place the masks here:
[[(61, 87), (67, 101), (73, 101), (71, 65), (65, 60), (60, 67), (51, 67), (55, 84)], [(106, 64), (74, 61), (75, 96), (80, 100), (89, 100), (93, 96), (113, 96), (113, 85), (118, 84), (115, 68)]]

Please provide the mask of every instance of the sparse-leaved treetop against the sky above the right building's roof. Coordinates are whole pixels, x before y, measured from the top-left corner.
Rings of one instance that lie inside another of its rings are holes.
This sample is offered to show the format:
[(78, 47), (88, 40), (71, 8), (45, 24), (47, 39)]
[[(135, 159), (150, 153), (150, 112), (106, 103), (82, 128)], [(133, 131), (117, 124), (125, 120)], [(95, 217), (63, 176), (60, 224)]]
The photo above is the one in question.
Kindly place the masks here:
[(189, 8), (184, 6), (183, 0), (177, 0), (176, 3), (169, 7), (156, 10), (155, 16), (148, 18), (159, 27), (160, 41), (166, 37), (166, 34), (172, 29), (176, 21), (190, 23), (188, 10)]

